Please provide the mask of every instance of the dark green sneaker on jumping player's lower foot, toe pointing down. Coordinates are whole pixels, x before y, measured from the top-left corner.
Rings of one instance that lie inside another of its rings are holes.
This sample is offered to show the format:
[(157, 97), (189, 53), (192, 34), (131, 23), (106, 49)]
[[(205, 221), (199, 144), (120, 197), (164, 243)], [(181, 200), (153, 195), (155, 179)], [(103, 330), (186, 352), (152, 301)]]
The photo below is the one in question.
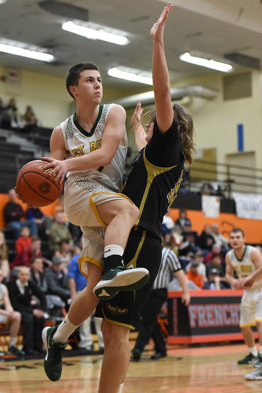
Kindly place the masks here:
[(62, 352), (66, 348), (66, 343), (55, 342), (53, 335), (57, 326), (45, 327), (42, 330), (42, 340), (46, 347), (44, 360), (45, 374), (51, 381), (58, 381), (62, 373)]

